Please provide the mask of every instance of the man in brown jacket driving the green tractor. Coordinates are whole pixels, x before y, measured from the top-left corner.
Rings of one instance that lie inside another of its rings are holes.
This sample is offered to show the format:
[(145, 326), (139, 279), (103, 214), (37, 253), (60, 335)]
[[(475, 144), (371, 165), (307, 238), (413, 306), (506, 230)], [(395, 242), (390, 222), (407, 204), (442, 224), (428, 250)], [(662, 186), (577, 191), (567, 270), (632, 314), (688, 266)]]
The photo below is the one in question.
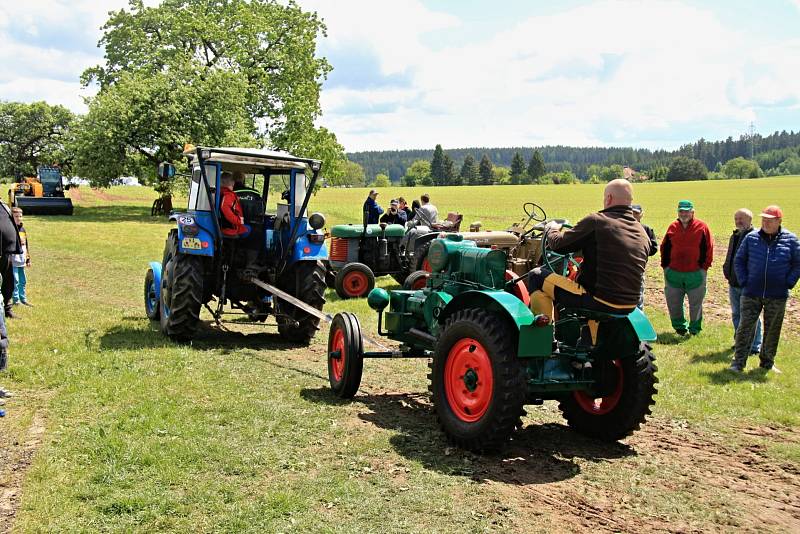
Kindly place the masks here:
[(639, 302), (642, 274), (650, 253), (650, 239), (633, 216), (633, 187), (612, 180), (603, 194), (603, 210), (584, 217), (561, 232), (550, 223), (547, 242), (560, 254), (581, 251), (583, 262), (576, 281), (537, 267), (527, 275), (534, 313), (552, 317), (553, 301), (570, 308), (627, 314)]

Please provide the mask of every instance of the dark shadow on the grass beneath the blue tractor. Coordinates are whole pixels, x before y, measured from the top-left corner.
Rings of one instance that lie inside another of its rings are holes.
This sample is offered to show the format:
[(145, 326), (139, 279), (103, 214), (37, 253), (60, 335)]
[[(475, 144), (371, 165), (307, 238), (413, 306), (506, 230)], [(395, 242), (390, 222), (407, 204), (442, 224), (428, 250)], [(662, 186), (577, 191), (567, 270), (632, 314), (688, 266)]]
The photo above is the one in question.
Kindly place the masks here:
[[(275, 327), (271, 329), (275, 330)], [(100, 350), (140, 350), (179, 345), (163, 335), (156, 322), (151, 322), (144, 328), (115, 326), (100, 336)], [(212, 323), (203, 322), (191, 342), (191, 347), (197, 350), (221, 349), (227, 354), (240, 349), (295, 350), (305, 348), (305, 345), (286, 341), (275, 331), (243, 334), (222, 330)]]

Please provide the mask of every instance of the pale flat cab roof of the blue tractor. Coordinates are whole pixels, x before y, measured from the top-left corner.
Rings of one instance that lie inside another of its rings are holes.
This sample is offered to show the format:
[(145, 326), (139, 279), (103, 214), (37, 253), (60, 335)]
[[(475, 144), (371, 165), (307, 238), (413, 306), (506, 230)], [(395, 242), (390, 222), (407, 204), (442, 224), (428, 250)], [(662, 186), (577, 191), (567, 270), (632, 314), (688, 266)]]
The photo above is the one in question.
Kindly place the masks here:
[(222, 163), (225, 169), (243, 172), (257, 172), (264, 168), (305, 170), (306, 165), (318, 171), (322, 165), (319, 160), (300, 158), (287, 152), (265, 150), (260, 148), (236, 147), (188, 147), (183, 151), (185, 156), (197, 158), (197, 148), (201, 150), (203, 159), (208, 162)]

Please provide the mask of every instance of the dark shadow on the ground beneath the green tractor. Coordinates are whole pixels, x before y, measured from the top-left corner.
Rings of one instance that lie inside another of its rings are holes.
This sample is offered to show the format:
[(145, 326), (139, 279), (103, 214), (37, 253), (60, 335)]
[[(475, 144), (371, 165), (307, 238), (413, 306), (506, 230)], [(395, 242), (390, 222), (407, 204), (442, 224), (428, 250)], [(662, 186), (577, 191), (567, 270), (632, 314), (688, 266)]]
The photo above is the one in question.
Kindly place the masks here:
[(359, 414), (362, 420), (398, 432), (389, 443), (399, 454), (428, 469), (478, 482), (546, 484), (578, 475), (576, 457), (607, 460), (636, 455), (628, 445), (591, 440), (553, 423), (528, 425), (514, 433), (500, 452), (477, 455), (447, 443), (427, 395), (368, 394), (347, 401), (321, 388), (303, 389), (300, 396), (321, 404), (363, 403), (370, 412)]

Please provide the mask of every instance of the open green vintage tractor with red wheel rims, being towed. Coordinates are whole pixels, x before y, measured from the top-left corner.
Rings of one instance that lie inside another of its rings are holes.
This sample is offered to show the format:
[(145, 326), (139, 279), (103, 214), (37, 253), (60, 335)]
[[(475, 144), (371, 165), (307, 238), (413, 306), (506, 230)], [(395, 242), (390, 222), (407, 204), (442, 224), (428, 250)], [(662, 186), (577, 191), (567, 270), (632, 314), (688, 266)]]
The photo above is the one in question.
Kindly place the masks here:
[[(563, 256), (542, 240), (548, 265)], [(656, 393), (656, 333), (638, 309), (628, 315), (558, 308), (551, 321), (507, 280), (507, 255), (454, 234), (433, 241), (433, 272), (421, 290), (373, 289), (378, 333), (400, 343), (368, 352), (358, 318), (338, 313), (328, 337), (334, 394), (351, 398), (365, 358), (432, 358), (429, 389), (448, 439), (474, 451), (501, 447), (526, 404), (557, 400), (567, 424), (616, 441), (637, 430)], [(524, 285), (524, 284), (523, 284)], [(388, 307), (388, 310), (387, 310)]]

